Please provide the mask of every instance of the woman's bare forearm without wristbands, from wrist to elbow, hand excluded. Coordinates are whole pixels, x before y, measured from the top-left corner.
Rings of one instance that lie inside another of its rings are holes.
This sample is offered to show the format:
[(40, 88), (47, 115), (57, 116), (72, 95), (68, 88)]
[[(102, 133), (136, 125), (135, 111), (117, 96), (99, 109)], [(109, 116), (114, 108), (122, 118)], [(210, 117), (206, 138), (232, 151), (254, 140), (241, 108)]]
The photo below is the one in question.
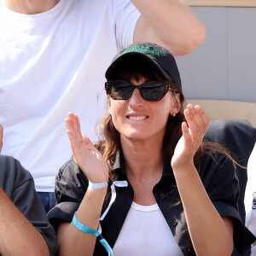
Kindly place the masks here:
[(195, 168), (183, 171), (175, 172), (175, 178), (196, 255), (231, 255), (232, 220), (220, 217)]

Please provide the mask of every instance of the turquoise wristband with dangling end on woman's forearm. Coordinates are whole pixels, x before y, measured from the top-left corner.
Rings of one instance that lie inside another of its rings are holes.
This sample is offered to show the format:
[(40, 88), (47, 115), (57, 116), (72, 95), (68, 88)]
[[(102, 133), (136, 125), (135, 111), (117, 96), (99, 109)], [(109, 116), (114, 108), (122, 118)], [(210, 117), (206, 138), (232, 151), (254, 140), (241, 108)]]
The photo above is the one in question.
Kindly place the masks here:
[(87, 227), (86, 225), (80, 223), (79, 220), (76, 218), (76, 212), (73, 214), (73, 221), (72, 222), (73, 222), (73, 225), (77, 229), (81, 230), (82, 232), (92, 234), (92, 235), (96, 236), (96, 239), (98, 241), (100, 241), (102, 246), (105, 247), (105, 249), (107, 250), (108, 256), (113, 255), (112, 248), (109, 246), (108, 241), (106, 241), (103, 238), (102, 234), (99, 231), (91, 229), (91, 228)]

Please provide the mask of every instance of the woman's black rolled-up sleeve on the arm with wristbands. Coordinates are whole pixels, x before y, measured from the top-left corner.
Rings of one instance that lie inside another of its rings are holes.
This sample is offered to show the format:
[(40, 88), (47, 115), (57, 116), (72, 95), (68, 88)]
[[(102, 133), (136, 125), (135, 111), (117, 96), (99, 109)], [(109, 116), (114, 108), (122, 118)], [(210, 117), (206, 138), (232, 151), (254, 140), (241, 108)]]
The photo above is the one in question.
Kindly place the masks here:
[(61, 166), (55, 180), (57, 205), (48, 212), (49, 222), (57, 230), (60, 221), (71, 222), (88, 188), (88, 179), (74, 160)]

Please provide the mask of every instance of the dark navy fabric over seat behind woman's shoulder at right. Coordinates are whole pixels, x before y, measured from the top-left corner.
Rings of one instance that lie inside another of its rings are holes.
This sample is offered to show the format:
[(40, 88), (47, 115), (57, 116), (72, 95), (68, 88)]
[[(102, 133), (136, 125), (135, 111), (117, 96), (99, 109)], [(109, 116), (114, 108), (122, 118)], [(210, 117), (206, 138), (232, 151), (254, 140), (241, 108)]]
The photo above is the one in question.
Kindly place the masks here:
[[(247, 167), (248, 158), (256, 142), (256, 129), (246, 119), (218, 119), (210, 122), (205, 138), (207, 141), (224, 145), (241, 166)], [(236, 175), (239, 180), (238, 212), (244, 224), (247, 170), (241, 166), (236, 166)], [(255, 241), (255, 237), (245, 229), (242, 240), (243, 251), (245, 251), (247, 247), (250, 247), (252, 241)], [(249, 251), (250, 249), (242, 255), (250, 255)], [(238, 255), (236, 250), (232, 255)]]

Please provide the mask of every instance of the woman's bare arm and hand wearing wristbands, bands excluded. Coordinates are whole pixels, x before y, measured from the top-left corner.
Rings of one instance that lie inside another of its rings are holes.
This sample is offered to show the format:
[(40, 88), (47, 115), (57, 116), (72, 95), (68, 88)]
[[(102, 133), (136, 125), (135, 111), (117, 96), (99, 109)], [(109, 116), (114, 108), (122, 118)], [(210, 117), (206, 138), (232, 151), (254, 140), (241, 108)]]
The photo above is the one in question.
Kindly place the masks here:
[[(80, 131), (79, 118), (73, 113), (66, 119), (67, 135), (74, 160), (90, 182), (108, 180), (108, 164), (89, 138)], [(97, 230), (107, 188), (87, 189), (76, 214), (79, 222)], [(77, 229), (72, 223), (60, 224), (57, 231), (58, 255), (92, 255), (96, 236)]]

